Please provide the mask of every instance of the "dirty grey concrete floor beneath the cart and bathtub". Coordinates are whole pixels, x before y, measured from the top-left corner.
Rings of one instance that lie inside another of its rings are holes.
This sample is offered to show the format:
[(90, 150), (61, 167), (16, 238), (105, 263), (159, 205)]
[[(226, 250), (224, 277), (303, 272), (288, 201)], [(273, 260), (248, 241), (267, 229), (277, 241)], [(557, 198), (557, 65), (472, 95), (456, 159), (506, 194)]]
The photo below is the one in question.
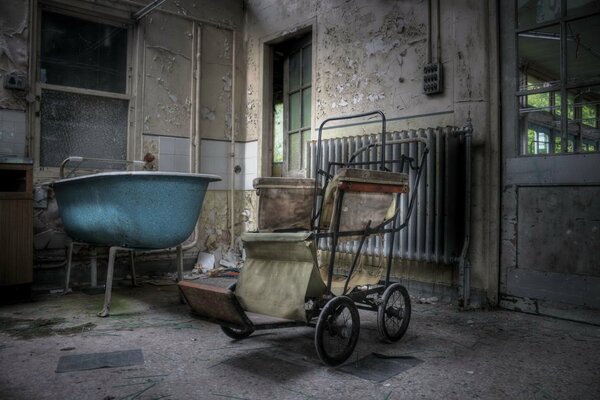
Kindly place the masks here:
[[(175, 286), (124, 286), (113, 299), (106, 319), (96, 317), (102, 294), (1, 306), (0, 399), (600, 398), (597, 326), (413, 302), (406, 336), (391, 345), (378, 341), (375, 314), (361, 311), (355, 354), (331, 368), (317, 358), (313, 328), (233, 341), (191, 316)], [(62, 356), (133, 349), (143, 364), (56, 372)], [(410, 365), (388, 379), (388, 370), (356, 376), (372, 353)]]

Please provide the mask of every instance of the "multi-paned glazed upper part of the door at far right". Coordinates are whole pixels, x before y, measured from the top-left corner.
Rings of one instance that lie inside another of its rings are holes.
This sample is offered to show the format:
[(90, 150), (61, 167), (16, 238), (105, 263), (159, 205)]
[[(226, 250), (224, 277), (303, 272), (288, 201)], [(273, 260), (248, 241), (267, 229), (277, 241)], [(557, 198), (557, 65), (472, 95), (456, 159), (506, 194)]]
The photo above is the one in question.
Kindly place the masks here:
[(521, 152), (598, 151), (600, 5), (516, 0), (516, 7)]

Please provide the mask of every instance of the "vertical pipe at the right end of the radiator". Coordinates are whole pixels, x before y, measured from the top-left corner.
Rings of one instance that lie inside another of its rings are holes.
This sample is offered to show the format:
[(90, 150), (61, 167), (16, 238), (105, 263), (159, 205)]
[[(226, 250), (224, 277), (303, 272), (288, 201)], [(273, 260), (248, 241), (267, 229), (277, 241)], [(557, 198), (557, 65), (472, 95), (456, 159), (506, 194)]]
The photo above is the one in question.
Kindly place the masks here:
[(464, 240), (462, 251), (458, 257), (458, 305), (468, 308), (471, 302), (471, 263), (469, 261), (469, 245), (471, 244), (471, 140), (473, 125), (471, 116), (467, 118), (466, 125), (455, 132), (465, 140), (465, 208), (464, 208)]

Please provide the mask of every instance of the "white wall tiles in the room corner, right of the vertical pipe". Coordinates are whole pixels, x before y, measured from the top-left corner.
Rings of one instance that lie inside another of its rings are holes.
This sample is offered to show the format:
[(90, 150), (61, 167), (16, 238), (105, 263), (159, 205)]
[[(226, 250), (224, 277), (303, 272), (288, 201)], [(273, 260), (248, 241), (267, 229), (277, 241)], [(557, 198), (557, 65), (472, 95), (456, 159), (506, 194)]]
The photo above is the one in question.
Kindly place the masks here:
[[(219, 140), (202, 140), (200, 172), (219, 175), (223, 180), (211, 183), (209, 190), (229, 190), (231, 173), (231, 143)], [(258, 176), (258, 142), (235, 144), (235, 165), (241, 171), (233, 174), (236, 190), (252, 190), (252, 181)]]

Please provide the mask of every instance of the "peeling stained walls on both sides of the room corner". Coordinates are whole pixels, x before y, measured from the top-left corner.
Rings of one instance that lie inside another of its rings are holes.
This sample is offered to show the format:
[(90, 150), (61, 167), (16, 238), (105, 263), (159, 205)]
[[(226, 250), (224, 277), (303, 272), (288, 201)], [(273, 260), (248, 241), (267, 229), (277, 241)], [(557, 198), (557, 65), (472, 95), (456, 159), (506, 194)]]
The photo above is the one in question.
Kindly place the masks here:
[[(114, 12), (127, 19), (142, 2), (53, 3), (98, 16)], [(29, 72), (28, 24), (36, 10), (29, 10), (29, 4), (17, 0), (0, 4), (0, 73), (24, 73), (35, 83), (35, 70)], [(468, 116), (472, 118), (472, 285), (494, 301), (500, 187), (494, 0), (179, 0), (160, 8), (130, 25), (128, 158), (140, 159), (152, 152), (158, 156), (159, 170), (224, 177), (207, 196), (203, 217), (207, 229), (198, 248), (215, 248), (230, 240), (231, 227), (222, 218), (214, 220), (217, 215), (230, 220), (232, 212), (231, 194), (220, 191), (240, 191), (234, 195), (235, 229), (252, 223), (251, 181), (270, 162), (269, 121), (265, 120), (265, 108), (270, 107), (265, 77), (270, 66), (265, 51), (308, 30), (313, 46), (313, 128), (327, 117), (371, 110), (386, 114), (389, 130), (462, 126)], [(423, 66), (429, 61), (443, 66), (443, 92), (433, 96), (423, 93)], [(0, 87), (0, 113), (23, 113), (23, 124), (29, 123), (27, 140), (32, 143), (24, 153), (37, 158), (36, 104), (34, 98), (28, 102), (27, 95), (35, 97), (35, 90), (20, 93)], [(237, 174), (231, 168), (232, 158), (240, 167)], [(36, 172), (38, 182), (55, 177), (51, 169)], [(47, 207), (54, 209), (51, 194), (39, 198), (40, 204), (48, 201)], [(44, 233), (43, 245), (48, 246), (47, 231), (54, 227), (44, 223), (43, 210), (38, 233)], [(411, 276), (456, 283), (447, 270), (431, 266), (424, 270), (430, 273), (419, 275), (417, 270)]]

